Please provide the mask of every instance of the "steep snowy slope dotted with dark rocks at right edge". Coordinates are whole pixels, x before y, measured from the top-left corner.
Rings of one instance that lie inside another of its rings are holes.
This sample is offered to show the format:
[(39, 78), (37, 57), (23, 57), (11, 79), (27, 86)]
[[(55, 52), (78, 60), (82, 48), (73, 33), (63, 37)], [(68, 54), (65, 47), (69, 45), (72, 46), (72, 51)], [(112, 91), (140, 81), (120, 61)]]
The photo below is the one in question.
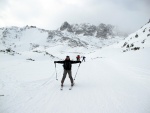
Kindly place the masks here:
[[(122, 43), (121, 43), (122, 44)], [(150, 47), (150, 20), (149, 22), (141, 27), (135, 33), (129, 35), (125, 41), (123, 41), (123, 51), (140, 50)]]

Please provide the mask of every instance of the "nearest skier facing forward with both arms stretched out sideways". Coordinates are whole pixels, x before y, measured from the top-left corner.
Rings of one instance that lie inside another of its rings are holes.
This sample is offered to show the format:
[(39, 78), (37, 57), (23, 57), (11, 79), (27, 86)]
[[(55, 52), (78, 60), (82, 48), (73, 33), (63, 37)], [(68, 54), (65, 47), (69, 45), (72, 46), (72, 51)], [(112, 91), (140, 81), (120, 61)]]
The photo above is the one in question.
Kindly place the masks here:
[(64, 61), (54, 61), (54, 63), (63, 64), (63, 67), (64, 67), (64, 73), (63, 73), (63, 77), (62, 77), (62, 80), (61, 80), (61, 86), (63, 87), (63, 83), (65, 81), (67, 73), (68, 73), (70, 81), (71, 81), (71, 86), (73, 86), (74, 81), (73, 81), (73, 78), (72, 78), (72, 71), (71, 71), (72, 65), (71, 64), (81, 63), (81, 61), (72, 61), (72, 60), (70, 60), (69, 56), (66, 56), (66, 59)]

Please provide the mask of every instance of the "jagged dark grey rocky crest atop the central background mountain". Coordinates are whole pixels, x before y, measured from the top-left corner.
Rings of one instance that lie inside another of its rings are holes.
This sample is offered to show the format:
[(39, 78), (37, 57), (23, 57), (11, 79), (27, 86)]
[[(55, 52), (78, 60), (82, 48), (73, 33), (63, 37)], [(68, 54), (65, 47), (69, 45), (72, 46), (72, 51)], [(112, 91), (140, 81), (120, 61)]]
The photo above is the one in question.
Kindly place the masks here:
[(95, 26), (88, 23), (70, 25), (68, 22), (64, 22), (60, 27), (60, 31), (67, 30), (76, 35), (83, 34), (83, 36), (96, 36), (97, 38), (108, 38), (108, 36), (113, 37), (115, 35), (113, 29), (114, 26), (103, 23)]

